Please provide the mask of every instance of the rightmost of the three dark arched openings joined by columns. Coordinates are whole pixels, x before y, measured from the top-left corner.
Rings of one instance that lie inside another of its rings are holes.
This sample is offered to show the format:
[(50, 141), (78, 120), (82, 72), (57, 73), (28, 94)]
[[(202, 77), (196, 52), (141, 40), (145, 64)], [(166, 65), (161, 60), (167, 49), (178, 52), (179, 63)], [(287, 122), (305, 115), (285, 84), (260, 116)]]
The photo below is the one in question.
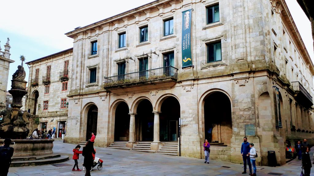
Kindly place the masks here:
[(167, 97), (161, 105), (160, 141), (178, 141), (180, 103), (173, 97)]

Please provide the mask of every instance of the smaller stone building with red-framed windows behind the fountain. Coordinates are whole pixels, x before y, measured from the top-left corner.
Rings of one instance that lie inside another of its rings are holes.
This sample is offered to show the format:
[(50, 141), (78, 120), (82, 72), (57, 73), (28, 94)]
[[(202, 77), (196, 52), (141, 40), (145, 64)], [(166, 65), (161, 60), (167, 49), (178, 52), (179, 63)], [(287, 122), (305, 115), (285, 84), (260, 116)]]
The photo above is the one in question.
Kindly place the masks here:
[(70, 48), (26, 63), (30, 67), (30, 76), (25, 110), (39, 118), (39, 130), (56, 127), (57, 138), (66, 132), (72, 56), (73, 49)]

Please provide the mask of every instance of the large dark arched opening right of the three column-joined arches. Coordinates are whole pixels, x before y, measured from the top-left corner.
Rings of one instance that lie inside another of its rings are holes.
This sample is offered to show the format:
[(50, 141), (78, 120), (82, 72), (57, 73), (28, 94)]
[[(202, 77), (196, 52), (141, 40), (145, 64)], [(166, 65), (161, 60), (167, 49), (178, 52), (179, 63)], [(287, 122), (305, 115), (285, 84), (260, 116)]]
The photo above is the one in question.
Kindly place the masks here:
[(230, 99), (223, 92), (215, 91), (204, 101), (205, 139), (230, 146), (232, 137)]

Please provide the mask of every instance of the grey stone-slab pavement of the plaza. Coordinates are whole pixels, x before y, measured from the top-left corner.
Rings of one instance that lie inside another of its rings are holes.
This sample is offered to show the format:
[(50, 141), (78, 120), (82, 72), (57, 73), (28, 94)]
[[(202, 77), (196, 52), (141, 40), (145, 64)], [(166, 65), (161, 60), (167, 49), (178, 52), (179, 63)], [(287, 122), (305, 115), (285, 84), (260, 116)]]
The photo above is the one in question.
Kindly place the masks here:
[[(38, 176), (38, 175), (84, 175), (84, 171), (72, 171), (74, 161), (72, 160), (72, 149), (76, 144), (63, 143), (62, 140), (54, 142), (53, 152), (61, 155), (68, 155), (70, 158), (66, 166), (56, 167), (53, 165), (12, 167), (9, 169), (9, 176)], [(83, 146), (82, 146), (83, 147)], [(81, 148), (82, 150), (83, 148)], [(95, 147), (96, 157), (104, 160), (102, 170), (93, 168), (91, 175), (156, 175), (156, 176), (177, 176), (177, 175), (248, 175), (241, 174), (243, 165), (223, 161), (210, 160), (209, 164), (203, 159), (168, 156), (156, 153), (136, 152), (111, 148)], [(311, 154), (312, 156), (312, 154)], [(312, 158), (313, 159), (313, 158)], [(78, 164), (82, 169), (84, 157), (79, 156)], [(313, 170), (313, 169), (312, 169)], [(257, 167), (257, 175), (300, 175), (301, 161), (295, 159), (280, 167)], [(312, 171), (312, 174), (314, 172)]]

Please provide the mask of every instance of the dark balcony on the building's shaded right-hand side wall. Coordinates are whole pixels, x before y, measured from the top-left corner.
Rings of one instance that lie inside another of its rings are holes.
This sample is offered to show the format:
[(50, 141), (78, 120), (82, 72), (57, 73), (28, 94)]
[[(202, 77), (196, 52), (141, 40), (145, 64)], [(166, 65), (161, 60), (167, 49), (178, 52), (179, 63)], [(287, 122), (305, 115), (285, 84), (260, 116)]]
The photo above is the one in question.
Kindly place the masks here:
[(313, 105), (313, 99), (309, 92), (306, 91), (306, 89), (299, 81), (291, 83), (292, 88), (295, 91), (295, 99), (298, 101), (298, 103), (306, 107), (311, 107)]

